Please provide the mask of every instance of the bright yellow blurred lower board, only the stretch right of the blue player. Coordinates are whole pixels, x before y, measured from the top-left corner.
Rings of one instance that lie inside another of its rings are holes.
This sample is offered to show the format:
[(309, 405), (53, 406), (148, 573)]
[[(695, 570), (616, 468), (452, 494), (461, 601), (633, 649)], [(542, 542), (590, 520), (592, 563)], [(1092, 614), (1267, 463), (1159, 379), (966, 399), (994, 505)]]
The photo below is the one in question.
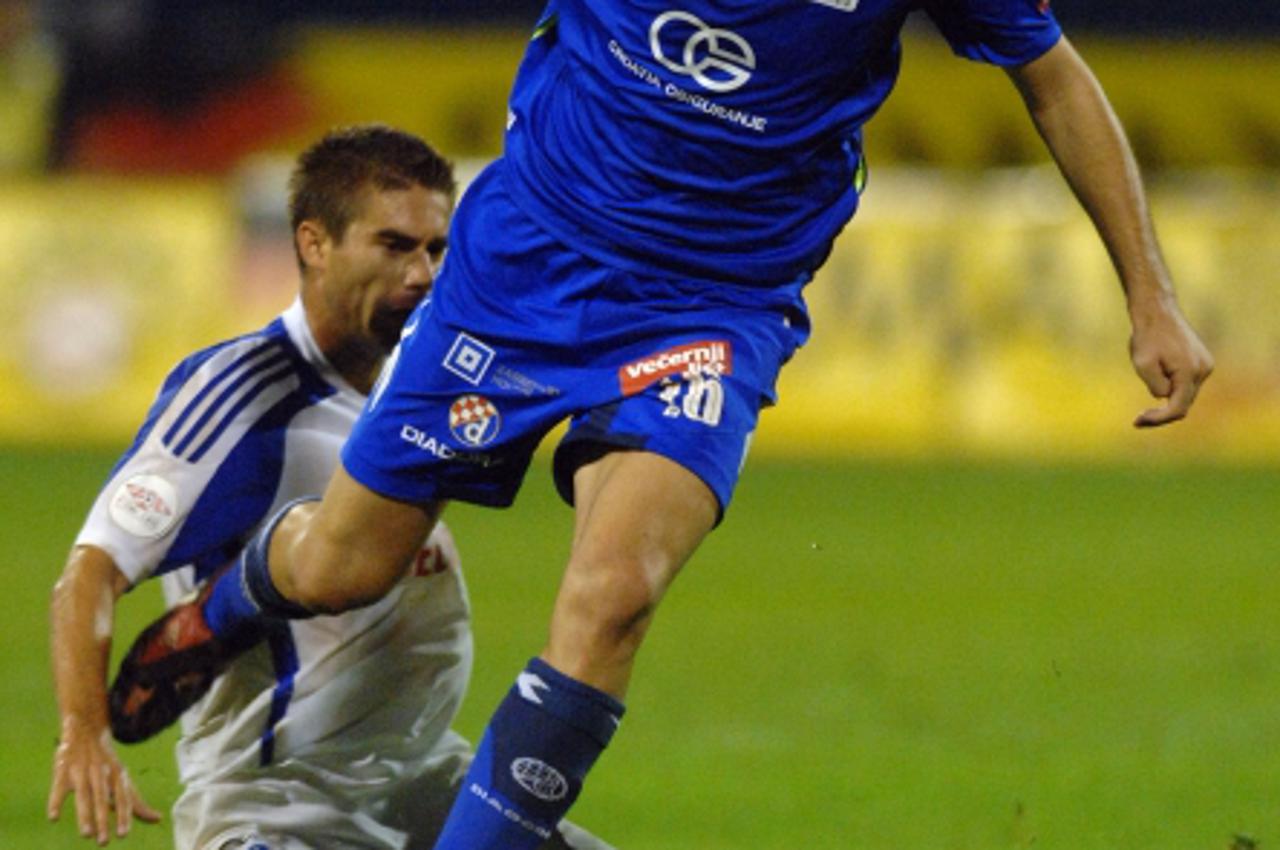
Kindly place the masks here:
[(1153, 402), (1123, 294), (1056, 173), (890, 172), (808, 289), (813, 341), (758, 445), (1280, 458), (1280, 180), (1202, 175), (1153, 198), (1217, 358), (1187, 422), (1130, 428)]

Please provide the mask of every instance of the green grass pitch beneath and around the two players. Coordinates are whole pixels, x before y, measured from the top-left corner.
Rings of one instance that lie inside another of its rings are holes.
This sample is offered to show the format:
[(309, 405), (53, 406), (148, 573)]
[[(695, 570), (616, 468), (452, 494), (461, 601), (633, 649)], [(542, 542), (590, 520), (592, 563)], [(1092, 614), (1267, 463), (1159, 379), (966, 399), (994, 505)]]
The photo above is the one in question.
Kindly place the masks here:
[[(109, 463), (0, 452), (0, 847), (82, 845), (42, 815), (46, 608)], [(1275, 470), (754, 462), (575, 817), (630, 850), (1280, 847), (1277, 508)], [(541, 467), (451, 513), (465, 734), (540, 645), (568, 521)], [(170, 746), (124, 749), (157, 805)]]

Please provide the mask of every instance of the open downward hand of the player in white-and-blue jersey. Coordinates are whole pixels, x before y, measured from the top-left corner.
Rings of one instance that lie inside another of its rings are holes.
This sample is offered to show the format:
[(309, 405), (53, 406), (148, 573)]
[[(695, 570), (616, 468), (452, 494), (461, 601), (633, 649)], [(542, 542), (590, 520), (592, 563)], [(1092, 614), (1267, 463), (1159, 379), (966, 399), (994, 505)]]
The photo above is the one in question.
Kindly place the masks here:
[(147, 823), (160, 821), (160, 813), (146, 804), (115, 757), (105, 726), (90, 730), (74, 723), (63, 725), (63, 737), (54, 753), (50, 821), (59, 818), (69, 794), (76, 795), (76, 821), (81, 835), (96, 838), (102, 846), (111, 840), (111, 809), (115, 810), (115, 835), (120, 838), (129, 833), (134, 817)]

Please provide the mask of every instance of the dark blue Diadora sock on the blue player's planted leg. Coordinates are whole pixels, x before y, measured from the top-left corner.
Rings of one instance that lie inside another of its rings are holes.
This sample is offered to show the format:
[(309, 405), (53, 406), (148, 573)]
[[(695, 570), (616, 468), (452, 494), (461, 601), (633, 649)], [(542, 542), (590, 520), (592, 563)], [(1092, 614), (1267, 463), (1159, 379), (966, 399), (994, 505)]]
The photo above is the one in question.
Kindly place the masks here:
[(435, 850), (534, 850), (577, 799), (622, 703), (535, 658), (494, 712)]

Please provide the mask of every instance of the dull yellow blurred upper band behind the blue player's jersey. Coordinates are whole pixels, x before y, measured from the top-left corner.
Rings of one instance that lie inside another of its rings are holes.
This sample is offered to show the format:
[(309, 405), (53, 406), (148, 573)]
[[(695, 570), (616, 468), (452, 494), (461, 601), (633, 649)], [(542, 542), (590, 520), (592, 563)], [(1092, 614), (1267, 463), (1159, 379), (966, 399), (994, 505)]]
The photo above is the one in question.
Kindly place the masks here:
[[(527, 32), (308, 29), (292, 68), (314, 125), (380, 120), (453, 156), (502, 150), (507, 93)], [(954, 56), (923, 18), (908, 27), (893, 93), (867, 127), (872, 168), (988, 168), (1046, 159), (1021, 100), (998, 69)], [(1280, 46), (1266, 41), (1096, 38), (1091, 64), (1148, 169), (1280, 168)]]

